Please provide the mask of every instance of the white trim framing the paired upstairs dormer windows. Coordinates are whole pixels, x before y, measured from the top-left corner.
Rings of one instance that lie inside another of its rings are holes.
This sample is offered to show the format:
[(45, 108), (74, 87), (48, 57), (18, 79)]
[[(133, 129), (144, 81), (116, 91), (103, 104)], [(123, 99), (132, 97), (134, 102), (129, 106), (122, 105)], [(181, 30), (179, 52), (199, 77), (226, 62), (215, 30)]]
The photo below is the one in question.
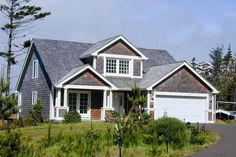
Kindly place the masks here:
[[(107, 69), (107, 59), (114, 59), (116, 60), (116, 73), (108, 73), (106, 71)], [(120, 74), (119, 73), (119, 61), (120, 60), (126, 60), (129, 61), (129, 73), (128, 74)], [(113, 57), (104, 57), (104, 70), (103, 70), (104, 76), (122, 76), (122, 77), (133, 77), (133, 59), (129, 58), (113, 58)]]

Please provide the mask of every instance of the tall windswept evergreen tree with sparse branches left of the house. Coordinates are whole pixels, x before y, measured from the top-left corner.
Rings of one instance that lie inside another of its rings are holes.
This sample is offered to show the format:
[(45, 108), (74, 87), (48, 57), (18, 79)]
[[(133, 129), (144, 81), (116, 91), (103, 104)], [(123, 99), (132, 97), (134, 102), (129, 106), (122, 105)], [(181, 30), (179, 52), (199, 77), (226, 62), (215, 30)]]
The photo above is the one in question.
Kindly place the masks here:
[(16, 52), (21, 51), (29, 42), (18, 44), (16, 39), (25, 38), (33, 32), (33, 23), (50, 15), (50, 12), (42, 12), (41, 7), (30, 5), (32, 0), (5, 0), (0, 4), (0, 11), (8, 22), (2, 27), (2, 31), (8, 36), (7, 49), (0, 52), (0, 56), (7, 62), (7, 82), (9, 87), (6, 94), (10, 93), (10, 78), (12, 65), (16, 64)]

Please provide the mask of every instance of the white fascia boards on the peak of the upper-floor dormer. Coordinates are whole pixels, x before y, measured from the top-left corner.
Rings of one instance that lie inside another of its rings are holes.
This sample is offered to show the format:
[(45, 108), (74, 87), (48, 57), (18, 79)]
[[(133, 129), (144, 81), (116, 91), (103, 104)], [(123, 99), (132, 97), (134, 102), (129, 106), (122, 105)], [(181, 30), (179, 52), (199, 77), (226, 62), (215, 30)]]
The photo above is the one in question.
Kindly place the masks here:
[(115, 43), (118, 40), (123, 40), (127, 45), (129, 45), (135, 52), (137, 52), (140, 56), (142, 60), (147, 60), (148, 58), (146, 56), (144, 56), (142, 54), (142, 52), (140, 52), (133, 44), (131, 44), (127, 39), (125, 39), (123, 36), (119, 36), (116, 39), (112, 40), (111, 42), (109, 42), (108, 44), (106, 44), (105, 46), (103, 46), (102, 48), (98, 49), (97, 51), (93, 52), (91, 55), (92, 56), (97, 56), (98, 53), (102, 50), (104, 50), (105, 48), (107, 48), (108, 46), (112, 45), (113, 43)]

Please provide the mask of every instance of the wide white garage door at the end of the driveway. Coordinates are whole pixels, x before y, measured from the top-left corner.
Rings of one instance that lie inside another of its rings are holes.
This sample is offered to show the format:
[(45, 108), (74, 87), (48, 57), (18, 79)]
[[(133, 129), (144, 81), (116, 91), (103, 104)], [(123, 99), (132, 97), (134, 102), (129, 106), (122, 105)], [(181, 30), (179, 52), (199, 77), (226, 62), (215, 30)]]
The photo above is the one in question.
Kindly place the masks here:
[(166, 115), (185, 122), (207, 122), (207, 97), (156, 95), (155, 105), (156, 118)]

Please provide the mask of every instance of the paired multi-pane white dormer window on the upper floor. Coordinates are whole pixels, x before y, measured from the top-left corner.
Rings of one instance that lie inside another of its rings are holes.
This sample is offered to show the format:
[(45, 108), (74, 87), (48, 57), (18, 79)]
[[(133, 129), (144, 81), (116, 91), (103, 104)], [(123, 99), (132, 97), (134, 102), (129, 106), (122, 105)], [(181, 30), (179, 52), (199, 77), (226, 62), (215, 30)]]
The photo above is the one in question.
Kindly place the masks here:
[(106, 58), (105, 74), (114, 76), (129, 76), (130, 75), (129, 59), (114, 59)]

